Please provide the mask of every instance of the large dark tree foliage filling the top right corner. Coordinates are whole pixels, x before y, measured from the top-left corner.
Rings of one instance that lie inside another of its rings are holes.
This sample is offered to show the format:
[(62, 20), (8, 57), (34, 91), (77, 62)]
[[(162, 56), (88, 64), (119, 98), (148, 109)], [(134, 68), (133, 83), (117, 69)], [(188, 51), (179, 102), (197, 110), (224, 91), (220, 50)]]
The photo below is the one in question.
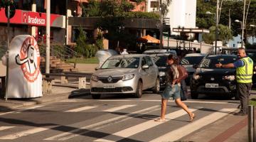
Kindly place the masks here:
[[(248, 1), (247, 1), (248, 4)], [(246, 7), (247, 8), (247, 7)], [(245, 25), (245, 38), (247, 35), (255, 34), (250, 28), (250, 24), (255, 24), (256, 21), (256, 1), (250, 1), (250, 9), (247, 14), (247, 21)], [(222, 9), (220, 11), (220, 24), (228, 26), (229, 10), (231, 18), (231, 30), (236, 36), (241, 33), (240, 23), (235, 22), (236, 19), (242, 21), (243, 2), (242, 1), (223, 1)], [(210, 28), (215, 25), (214, 14), (206, 14), (206, 11), (216, 13), (216, 0), (202, 1), (197, 0), (196, 6), (196, 26), (199, 28)], [(246, 9), (247, 11), (247, 9)], [(247, 34), (247, 35), (246, 35)]]

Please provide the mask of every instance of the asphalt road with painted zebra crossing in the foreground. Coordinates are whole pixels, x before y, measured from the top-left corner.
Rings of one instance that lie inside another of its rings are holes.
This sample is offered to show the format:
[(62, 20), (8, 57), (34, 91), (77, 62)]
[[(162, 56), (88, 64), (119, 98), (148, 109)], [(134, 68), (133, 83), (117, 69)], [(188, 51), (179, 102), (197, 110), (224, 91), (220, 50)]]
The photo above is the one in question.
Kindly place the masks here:
[[(225, 97), (201, 97), (185, 103), (196, 114), (193, 122), (188, 122), (188, 114), (173, 101), (168, 104), (166, 121), (154, 121), (161, 112), (161, 97), (150, 92), (141, 99), (103, 95), (95, 100), (87, 96), (21, 108), (0, 113), (0, 141), (206, 141), (218, 136), (213, 124), (223, 124), (238, 111), (239, 104)], [(195, 137), (210, 128), (215, 135)]]

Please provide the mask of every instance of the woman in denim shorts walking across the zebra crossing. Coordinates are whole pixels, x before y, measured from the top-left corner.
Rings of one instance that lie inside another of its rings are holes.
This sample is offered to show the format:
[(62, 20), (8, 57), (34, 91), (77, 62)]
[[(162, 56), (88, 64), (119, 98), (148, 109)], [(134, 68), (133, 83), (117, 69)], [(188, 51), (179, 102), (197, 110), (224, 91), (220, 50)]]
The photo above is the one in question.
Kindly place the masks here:
[(155, 121), (166, 121), (166, 105), (168, 99), (173, 97), (176, 104), (184, 109), (188, 113), (189, 121), (193, 121), (195, 114), (188, 110), (186, 104), (181, 102), (181, 76), (178, 74), (178, 57), (176, 55), (169, 55), (167, 58), (167, 72), (166, 72), (166, 88), (164, 92), (161, 94), (161, 116), (159, 119), (155, 119)]

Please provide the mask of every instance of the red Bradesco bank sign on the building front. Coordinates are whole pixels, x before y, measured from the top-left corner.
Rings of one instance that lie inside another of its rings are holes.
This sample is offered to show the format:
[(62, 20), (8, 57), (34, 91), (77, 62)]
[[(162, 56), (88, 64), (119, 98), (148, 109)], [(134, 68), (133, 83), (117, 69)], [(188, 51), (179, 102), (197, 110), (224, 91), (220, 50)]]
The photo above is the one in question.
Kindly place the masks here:
[[(4, 15), (4, 9), (0, 11), (0, 23), (7, 23), (7, 18)], [(50, 14), (50, 26), (65, 28), (64, 16), (58, 14)], [(10, 19), (10, 23), (26, 24), (30, 26), (46, 26), (46, 13), (38, 13), (32, 11), (22, 11), (16, 9), (16, 13), (13, 18)]]

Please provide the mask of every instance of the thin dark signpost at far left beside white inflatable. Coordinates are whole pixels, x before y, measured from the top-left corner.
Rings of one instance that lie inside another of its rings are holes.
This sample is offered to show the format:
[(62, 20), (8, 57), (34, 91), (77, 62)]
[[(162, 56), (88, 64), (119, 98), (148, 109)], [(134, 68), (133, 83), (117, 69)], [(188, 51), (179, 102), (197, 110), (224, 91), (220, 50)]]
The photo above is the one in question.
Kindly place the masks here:
[(9, 39), (9, 29), (10, 29), (10, 5), (7, 6), (7, 58), (6, 58), (6, 81), (5, 81), (5, 100), (7, 101), (8, 98), (8, 80), (9, 80), (9, 49), (10, 49), (10, 39)]

